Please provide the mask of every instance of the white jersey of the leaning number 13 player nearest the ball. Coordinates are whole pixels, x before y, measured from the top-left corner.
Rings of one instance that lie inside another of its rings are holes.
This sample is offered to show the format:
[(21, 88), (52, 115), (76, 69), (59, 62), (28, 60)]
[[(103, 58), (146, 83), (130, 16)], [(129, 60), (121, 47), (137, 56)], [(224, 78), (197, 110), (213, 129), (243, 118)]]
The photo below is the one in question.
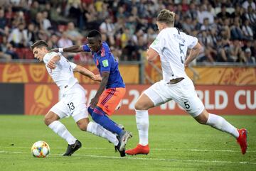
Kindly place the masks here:
[(77, 66), (73, 62), (69, 62), (61, 53), (46, 53), (43, 57), (43, 62), (47, 65), (50, 59), (56, 55), (60, 56), (60, 60), (56, 62), (56, 68), (51, 70), (46, 66), (50, 77), (57, 84), (60, 89), (60, 94), (64, 94), (73, 85), (78, 83), (78, 79), (74, 77), (73, 69)]

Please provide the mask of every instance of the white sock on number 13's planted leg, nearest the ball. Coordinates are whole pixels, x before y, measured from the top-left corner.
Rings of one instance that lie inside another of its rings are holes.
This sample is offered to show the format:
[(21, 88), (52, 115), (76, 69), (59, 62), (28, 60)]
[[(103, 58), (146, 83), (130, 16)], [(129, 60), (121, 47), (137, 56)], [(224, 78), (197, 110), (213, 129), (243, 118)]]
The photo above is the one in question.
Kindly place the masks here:
[(66, 140), (68, 144), (73, 144), (77, 140), (60, 121), (53, 121), (48, 127), (57, 133), (58, 136)]

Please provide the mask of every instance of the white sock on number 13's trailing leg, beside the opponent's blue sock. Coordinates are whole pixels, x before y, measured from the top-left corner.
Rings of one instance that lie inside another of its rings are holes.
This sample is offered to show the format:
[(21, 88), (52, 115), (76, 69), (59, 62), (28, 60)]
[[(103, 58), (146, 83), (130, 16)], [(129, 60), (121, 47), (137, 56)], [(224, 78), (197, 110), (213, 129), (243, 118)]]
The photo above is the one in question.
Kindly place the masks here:
[(103, 128), (97, 123), (89, 122), (87, 125), (87, 132), (90, 132), (92, 134), (95, 134), (96, 136), (105, 138), (109, 140), (111, 143), (113, 143), (114, 145), (118, 145), (117, 136), (114, 135), (114, 133), (107, 131), (107, 129)]

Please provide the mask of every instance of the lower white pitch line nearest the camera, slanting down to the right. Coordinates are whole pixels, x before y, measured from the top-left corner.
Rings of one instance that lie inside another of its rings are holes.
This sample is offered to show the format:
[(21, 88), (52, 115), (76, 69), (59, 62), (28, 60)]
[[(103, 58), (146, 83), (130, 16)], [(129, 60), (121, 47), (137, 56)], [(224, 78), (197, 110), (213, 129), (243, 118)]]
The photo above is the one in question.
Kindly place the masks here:
[[(14, 153), (14, 154), (30, 154), (18, 151), (0, 151), (0, 153)], [(62, 154), (50, 154), (61, 156)], [(137, 157), (128, 157), (121, 158), (116, 156), (104, 156), (104, 155), (73, 155), (75, 157), (87, 157), (87, 158), (108, 158), (108, 159), (122, 159), (122, 160), (156, 160), (156, 161), (165, 161), (165, 162), (214, 162), (214, 163), (229, 163), (229, 164), (241, 164), (241, 165), (256, 165), (256, 162), (233, 162), (233, 161), (218, 161), (218, 160), (181, 160), (181, 159), (173, 159), (173, 158), (137, 158)]]

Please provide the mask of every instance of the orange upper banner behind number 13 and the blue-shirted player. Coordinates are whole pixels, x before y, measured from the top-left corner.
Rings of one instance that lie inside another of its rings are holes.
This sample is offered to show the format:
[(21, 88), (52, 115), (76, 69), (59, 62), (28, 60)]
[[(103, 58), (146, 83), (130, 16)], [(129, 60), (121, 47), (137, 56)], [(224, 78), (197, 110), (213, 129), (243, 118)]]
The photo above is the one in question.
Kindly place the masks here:
[[(97, 74), (95, 65), (85, 65), (88, 70)], [(124, 82), (127, 84), (139, 83), (139, 66), (138, 65), (120, 65), (119, 70)], [(75, 73), (75, 77), (80, 83), (95, 84), (92, 79)], [(3, 83), (52, 83), (43, 63), (0, 63), (0, 82)]]

